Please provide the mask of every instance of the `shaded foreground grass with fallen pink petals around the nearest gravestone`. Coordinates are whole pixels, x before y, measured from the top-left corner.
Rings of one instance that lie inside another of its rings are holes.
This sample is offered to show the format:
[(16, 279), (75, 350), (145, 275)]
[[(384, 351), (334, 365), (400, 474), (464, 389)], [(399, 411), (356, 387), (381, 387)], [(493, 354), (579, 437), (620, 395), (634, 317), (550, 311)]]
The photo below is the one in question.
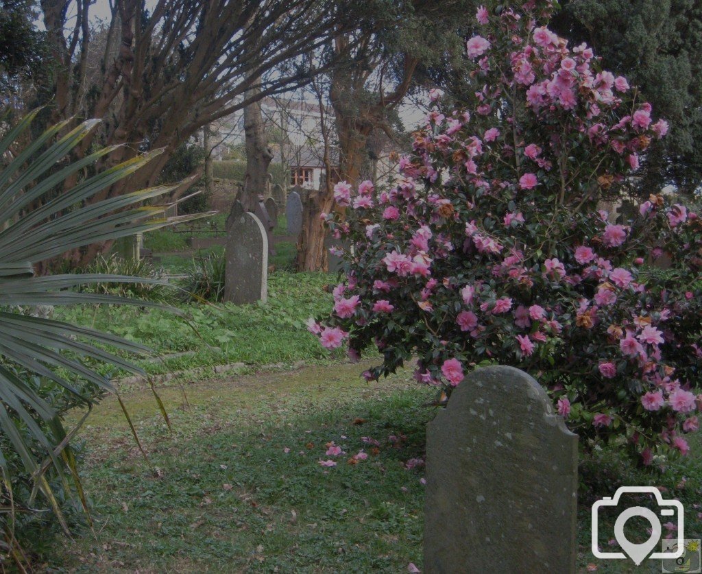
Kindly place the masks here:
[[(204, 381), (188, 386), (189, 407), (178, 389), (161, 389), (172, 432), (155, 415), (149, 391), (127, 395), (155, 475), (119, 407), (106, 400), (82, 431), (98, 535), (84, 530), (69, 541), (44, 526), (39, 558), (47, 567), (86, 572), (406, 572), (410, 562), (421, 568), (423, 469), (404, 463), (424, 456), (434, 411), (423, 405), (434, 392), (411, 382), (409, 372), (366, 384), (358, 377), (366, 366)], [(406, 440), (390, 443), (390, 435), (401, 434)], [(362, 436), (380, 442), (376, 454)], [(325, 455), (329, 441), (347, 455), (324, 469), (319, 460), (333, 458)], [(361, 448), (369, 458), (347, 464)], [(588, 462), (598, 478), (580, 493), (578, 572), (591, 563), (598, 572), (660, 571), (658, 561), (635, 570), (589, 552), (590, 504), (622, 483), (668, 488), (666, 495), (686, 506), (688, 537), (698, 537), (692, 504), (702, 499), (700, 441), (694, 449), (664, 478), (631, 469), (614, 451)]]

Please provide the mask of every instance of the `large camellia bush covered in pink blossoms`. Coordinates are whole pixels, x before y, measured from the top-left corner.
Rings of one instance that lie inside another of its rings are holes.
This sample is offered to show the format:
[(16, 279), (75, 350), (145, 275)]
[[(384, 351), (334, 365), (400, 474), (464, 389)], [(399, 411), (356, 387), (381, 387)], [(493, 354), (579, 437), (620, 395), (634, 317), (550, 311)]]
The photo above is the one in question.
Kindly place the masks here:
[(668, 124), (588, 46), (548, 29), (548, 1), (477, 11), (475, 103), (441, 94), (390, 190), (335, 188), (345, 253), (331, 317), (309, 328), (450, 395), (476, 365), (532, 374), (583, 445), (650, 464), (687, 454), (702, 394), (702, 222), (651, 190), (630, 220), (598, 209)]

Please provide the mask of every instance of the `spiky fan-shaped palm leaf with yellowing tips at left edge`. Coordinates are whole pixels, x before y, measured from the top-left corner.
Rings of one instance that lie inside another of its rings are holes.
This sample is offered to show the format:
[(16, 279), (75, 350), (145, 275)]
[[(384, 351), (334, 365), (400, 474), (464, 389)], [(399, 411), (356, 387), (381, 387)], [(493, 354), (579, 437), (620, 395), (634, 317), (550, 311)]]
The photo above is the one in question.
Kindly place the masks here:
[[(96, 194), (149, 162), (159, 151), (130, 159), (92, 176), (85, 176), (72, 189), (48, 193), (66, 178), (83, 171), (114, 148), (105, 148), (74, 162), (69, 152), (96, 124), (88, 120), (63, 136), (68, 122), (47, 129), (26, 148), (13, 154), (11, 146), (27, 131), (37, 112), (24, 117), (0, 139), (0, 157), (6, 167), (0, 170), (0, 470), (6, 488), (11, 489), (11, 467), (5, 448), (21, 460), (34, 492), (41, 492), (62, 526), (58, 502), (46, 478), (53, 467), (60, 482), (77, 478), (72, 452), (67, 448), (75, 429), (66, 431), (53, 406), (41, 398), (32, 377), (48, 379), (74, 396), (78, 403), (91, 406), (76, 381), (88, 381), (99, 389), (114, 391), (110, 380), (91, 368), (86, 359), (108, 363), (140, 373), (128, 360), (105, 348), (127, 353), (148, 349), (110, 334), (65, 322), (24, 315), (15, 306), (74, 304), (138, 304), (108, 294), (81, 293), (74, 287), (91, 282), (157, 282), (119, 275), (48, 275), (39, 277), (34, 266), (87, 244), (171, 225), (197, 216), (168, 218), (168, 206), (143, 206), (142, 202), (164, 195), (176, 186), (161, 186), (128, 193), (107, 200), (91, 201)], [(60, 169), (55, 167), (64, 165)], [(41, 207), (32, 208), (41, 202)], [(34, 441), (34, 448), (27, 440)], [(37, 445), (44, 450), (38, 451)], [(79, 483), (76, 488), (81, 494)], [(11, 493), (11, 490), (8, 490)], [(81, 496), (82, 498), (82, 496)]]

